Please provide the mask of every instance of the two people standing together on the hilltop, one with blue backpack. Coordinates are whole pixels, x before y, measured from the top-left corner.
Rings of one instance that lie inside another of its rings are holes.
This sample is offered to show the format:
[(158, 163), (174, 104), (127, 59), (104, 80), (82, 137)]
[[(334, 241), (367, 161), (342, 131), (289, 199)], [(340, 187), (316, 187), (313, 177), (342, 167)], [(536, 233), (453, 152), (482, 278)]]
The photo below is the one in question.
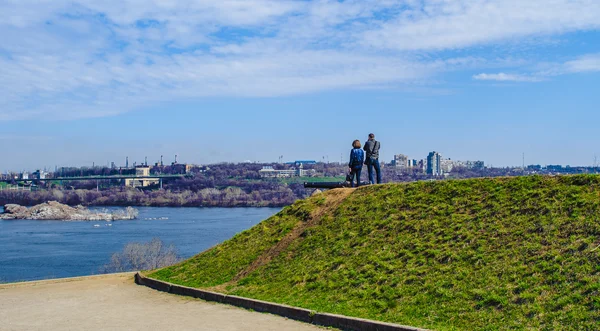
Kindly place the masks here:
[[(375, 135), (370, 133), (369, 140), (365, 142), (365, 147), (360, 149), (361, 144), (359, 140), (352, 142), (352, 150), (350, 151), (350, 162), (348, 167), (350, 168), (350, 184), (352, 187), (360, 186), (360, 174), (362, 172), (363, 163), (367, 165), (369, 171), (369, 182), (375, 184), (375, 178), (373, 177), (373, 168), (377, 175), (377, 184), (381, 183), (381, 168), (379, 166), (379, 148), (381, 144), (375, 140)], [(364, 150), (364, 152), (363, 152)], [(366, 158), (365, 158), (366, 152)], [(356, 186), (354, 185), (354, 177), (356, 176)]]

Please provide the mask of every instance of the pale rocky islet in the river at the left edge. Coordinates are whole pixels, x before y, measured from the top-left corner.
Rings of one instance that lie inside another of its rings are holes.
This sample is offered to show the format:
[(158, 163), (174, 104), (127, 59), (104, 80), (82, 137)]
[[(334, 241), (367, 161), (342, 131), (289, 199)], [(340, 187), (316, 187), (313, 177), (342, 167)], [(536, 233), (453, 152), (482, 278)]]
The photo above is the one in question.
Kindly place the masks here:
[(56, 201), (49, 201), (30, 208), (16, 205), (4, 205), (0, 220), (61, 220), (61, 221), (117, 221), (137, 218), (138, 211), (127, 207), (113, 212), (91, 211), (83, 206), (70, 207)]

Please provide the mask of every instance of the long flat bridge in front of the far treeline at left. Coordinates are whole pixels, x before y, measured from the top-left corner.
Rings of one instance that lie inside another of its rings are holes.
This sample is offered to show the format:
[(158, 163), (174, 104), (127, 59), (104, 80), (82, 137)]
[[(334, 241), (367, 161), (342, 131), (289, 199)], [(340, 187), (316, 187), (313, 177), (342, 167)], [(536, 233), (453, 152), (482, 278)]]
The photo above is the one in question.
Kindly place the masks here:
[(169, 178), (184, 178), (189, 177), (189, 175), (149, 175), (149, 176), (135, 176), (135, 175), (118, 175), (118, 176), (80, 176), (80, 177), (55, 177), (55, 178), (21, 178), (21, 179), (0, 179), (0, 182), (4, 183), (40, 183), (40, 182), (50, 182), (50, 181), (88, 181), (95, 180), (96, 181), (96, 190), (100, 188), (100, 181), (103, 180), (124, 180), (126, 186), (133, 187), (144, 187), (148, 186), (147, 183), (157, 183), (162, 189), (163, 179)]

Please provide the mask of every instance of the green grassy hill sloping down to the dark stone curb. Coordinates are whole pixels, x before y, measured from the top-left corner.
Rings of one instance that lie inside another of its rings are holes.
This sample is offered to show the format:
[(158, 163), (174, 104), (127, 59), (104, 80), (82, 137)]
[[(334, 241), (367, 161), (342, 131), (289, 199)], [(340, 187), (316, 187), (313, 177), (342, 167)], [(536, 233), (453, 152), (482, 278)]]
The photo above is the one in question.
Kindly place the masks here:
[(149, 276), (437, 330), (597, 329), (600, 176), (340, 189)]

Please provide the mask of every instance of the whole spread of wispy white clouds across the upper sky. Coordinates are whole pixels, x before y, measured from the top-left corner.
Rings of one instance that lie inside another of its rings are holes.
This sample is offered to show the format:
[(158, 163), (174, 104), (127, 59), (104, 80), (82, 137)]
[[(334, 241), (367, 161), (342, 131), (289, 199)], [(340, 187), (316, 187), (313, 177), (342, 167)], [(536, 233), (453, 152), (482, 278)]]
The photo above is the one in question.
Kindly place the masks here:
[[(4, 1), (0, 120), (423, 85), (443, 72), (511, 62), (440, 50), (594, 30), (597, 17), (594, 0)], [(555, 70), (593, 71), (598, 62), (590, 55)], [(532, 72), (473, 78), (543, 79)]]

